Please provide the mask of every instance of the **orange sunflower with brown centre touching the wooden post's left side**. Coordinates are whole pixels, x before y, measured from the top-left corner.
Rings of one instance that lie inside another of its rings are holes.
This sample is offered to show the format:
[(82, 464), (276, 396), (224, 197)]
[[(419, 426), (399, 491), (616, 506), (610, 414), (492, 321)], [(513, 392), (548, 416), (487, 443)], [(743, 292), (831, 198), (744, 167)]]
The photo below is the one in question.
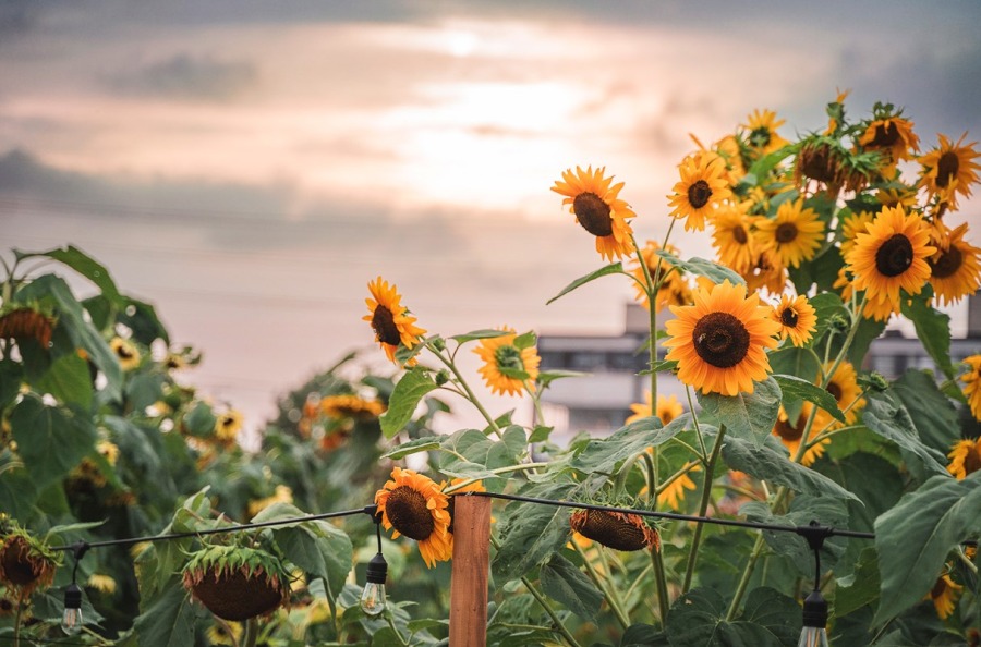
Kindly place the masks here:
[(385, 529), (395, 528), (392, 538), (405, 535), (419, 542), (419, 552), (428, 567), (452, 556), (450, 515), (443, 486), (412, 469), (396, 467), (391, 480), (375, 493)]

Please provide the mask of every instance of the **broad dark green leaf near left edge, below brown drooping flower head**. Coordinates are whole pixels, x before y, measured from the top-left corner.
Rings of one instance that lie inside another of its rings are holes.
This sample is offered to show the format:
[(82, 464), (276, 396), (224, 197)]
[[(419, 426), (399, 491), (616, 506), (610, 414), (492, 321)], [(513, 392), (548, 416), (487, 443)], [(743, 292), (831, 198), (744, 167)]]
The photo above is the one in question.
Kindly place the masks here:
[(87, 416), (46, 406), (34, 395), (25, 395), (14, 406), (10, 426), (38, 490), (64, 477), (92, 451), (98, 437)]

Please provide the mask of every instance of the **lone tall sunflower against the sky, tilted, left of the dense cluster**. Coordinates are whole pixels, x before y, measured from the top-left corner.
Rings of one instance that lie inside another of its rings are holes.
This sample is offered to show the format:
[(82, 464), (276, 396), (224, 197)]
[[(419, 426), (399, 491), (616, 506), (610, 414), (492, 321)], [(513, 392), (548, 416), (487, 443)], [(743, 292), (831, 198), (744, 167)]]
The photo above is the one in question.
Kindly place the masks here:
[(618, 198), (623, 183), (614, 184), (613, 175), (604, 176), (606, 167), (581, 167), (562, 172), (562, 181), (556, 180), (552, 191), (566, 196), (562, 205), (569, 205), (569, 212), (584, 230), (596, 236), (596, 252), (613, 261), (633, 252), (631, 235), (633, 230), (627, 222), (637, 216), (630, 206)]

